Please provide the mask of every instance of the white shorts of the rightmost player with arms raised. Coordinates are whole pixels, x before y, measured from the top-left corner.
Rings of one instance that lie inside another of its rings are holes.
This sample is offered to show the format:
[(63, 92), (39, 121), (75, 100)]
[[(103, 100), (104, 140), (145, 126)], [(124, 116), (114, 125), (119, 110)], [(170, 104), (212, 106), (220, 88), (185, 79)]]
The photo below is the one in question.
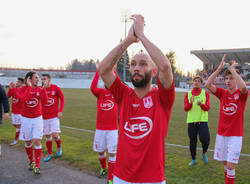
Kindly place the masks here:
[(242, 136), (216, 135), (214, 159), (238, 164), (242, 147)]

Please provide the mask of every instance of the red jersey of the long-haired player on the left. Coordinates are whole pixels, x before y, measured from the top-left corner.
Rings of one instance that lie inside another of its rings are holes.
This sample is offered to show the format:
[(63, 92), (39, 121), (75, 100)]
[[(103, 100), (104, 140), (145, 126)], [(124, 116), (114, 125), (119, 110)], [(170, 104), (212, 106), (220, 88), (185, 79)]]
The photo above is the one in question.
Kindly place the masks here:
[(22, 87), (20, 92), (17, 92), (18, 98), (23, 102), (22, 116), (26, 118), (37, 118), (42, 115), (41, 101), (48, 102), (46, 89), (40, 87), (31, 88), (30, 86)]

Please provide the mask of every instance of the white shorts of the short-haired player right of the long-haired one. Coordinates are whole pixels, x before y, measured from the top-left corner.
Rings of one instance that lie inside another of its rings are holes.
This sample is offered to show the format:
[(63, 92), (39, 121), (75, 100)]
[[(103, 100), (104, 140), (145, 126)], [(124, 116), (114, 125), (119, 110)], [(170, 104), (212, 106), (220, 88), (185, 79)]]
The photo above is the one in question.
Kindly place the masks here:
[(50, 135), (52, 133), (61, 133), (60, 121), (57, 117), (43, 120), (43, 134)]

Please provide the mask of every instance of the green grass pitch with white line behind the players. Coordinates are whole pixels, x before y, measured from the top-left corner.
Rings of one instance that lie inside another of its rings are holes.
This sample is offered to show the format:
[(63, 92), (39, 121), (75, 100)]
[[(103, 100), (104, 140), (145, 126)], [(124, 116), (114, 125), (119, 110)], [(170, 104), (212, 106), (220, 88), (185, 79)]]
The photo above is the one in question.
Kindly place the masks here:
[[(74, 128), (95, 130), (96, 98), (89, 90), (64, 89), (66, 105), (61, 124)], [(175, 104), (172, 110), (166, 142), (170, 144), (189, 144), (187, 135), (186, 113), (183, 110), (184, 93), (176, 93)], [(219, 101), (211, 96), (211, 110), (209, 111), (209, 128), (211, 144), (214, 148), (217, 122), (219, 118)], [(244, 141), (242, 153), (250, 154), (250, 102), (245, 111)], [(62, 128), (63, 159), (65, 162), (80, 170), (91, 174), (99, 168), (97, 154), (92, 151), (93, 133)], [(0, 126), (0, 142), (10, 143), (14, 137), (14, 127), (10, 121)], [(45, 144), (43, 144), (45, 145)], [(198, 144), (201, 147), (200, 143)], [(23, 149), (23, 143), (16, 145)], [(45, 148), (45, 147), (43, 147)], [(53, 145), (54, 151), (56, 145)], [(201, 151), (198, 151), (198, 164), (192, 168), (188, 166), (190, 153), (186, 148), (173, 146), (166, 147), (166, 178), (169, 184), (223, 184), (224, 170), (222, 163), (213, 160), (213, 152), (208, 152), (209, 163), (203, 164)], [(241, 156), (236, 168), (237, 184), (246, 184), (250, 181), (250, 157)]]

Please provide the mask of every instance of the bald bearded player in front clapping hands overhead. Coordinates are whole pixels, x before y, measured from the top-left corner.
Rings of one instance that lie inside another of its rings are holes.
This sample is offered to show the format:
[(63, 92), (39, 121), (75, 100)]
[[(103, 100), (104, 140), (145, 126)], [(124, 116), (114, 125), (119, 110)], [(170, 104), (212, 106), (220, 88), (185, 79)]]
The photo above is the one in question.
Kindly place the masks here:
[[(165, 184), (165, 137), (175, 90), (171, 64), (144, 34), (144, 17), (133, 15), (128, 36), (103, 59), (99, 73), (119, 108), (119, 139), (114, 184)], [(130, 63), (134, 89), (113, 72), (123, 52), (140, 41), (147, 52), (135, 54)], [(158, 88), (152, 87), (159, 71)]]

